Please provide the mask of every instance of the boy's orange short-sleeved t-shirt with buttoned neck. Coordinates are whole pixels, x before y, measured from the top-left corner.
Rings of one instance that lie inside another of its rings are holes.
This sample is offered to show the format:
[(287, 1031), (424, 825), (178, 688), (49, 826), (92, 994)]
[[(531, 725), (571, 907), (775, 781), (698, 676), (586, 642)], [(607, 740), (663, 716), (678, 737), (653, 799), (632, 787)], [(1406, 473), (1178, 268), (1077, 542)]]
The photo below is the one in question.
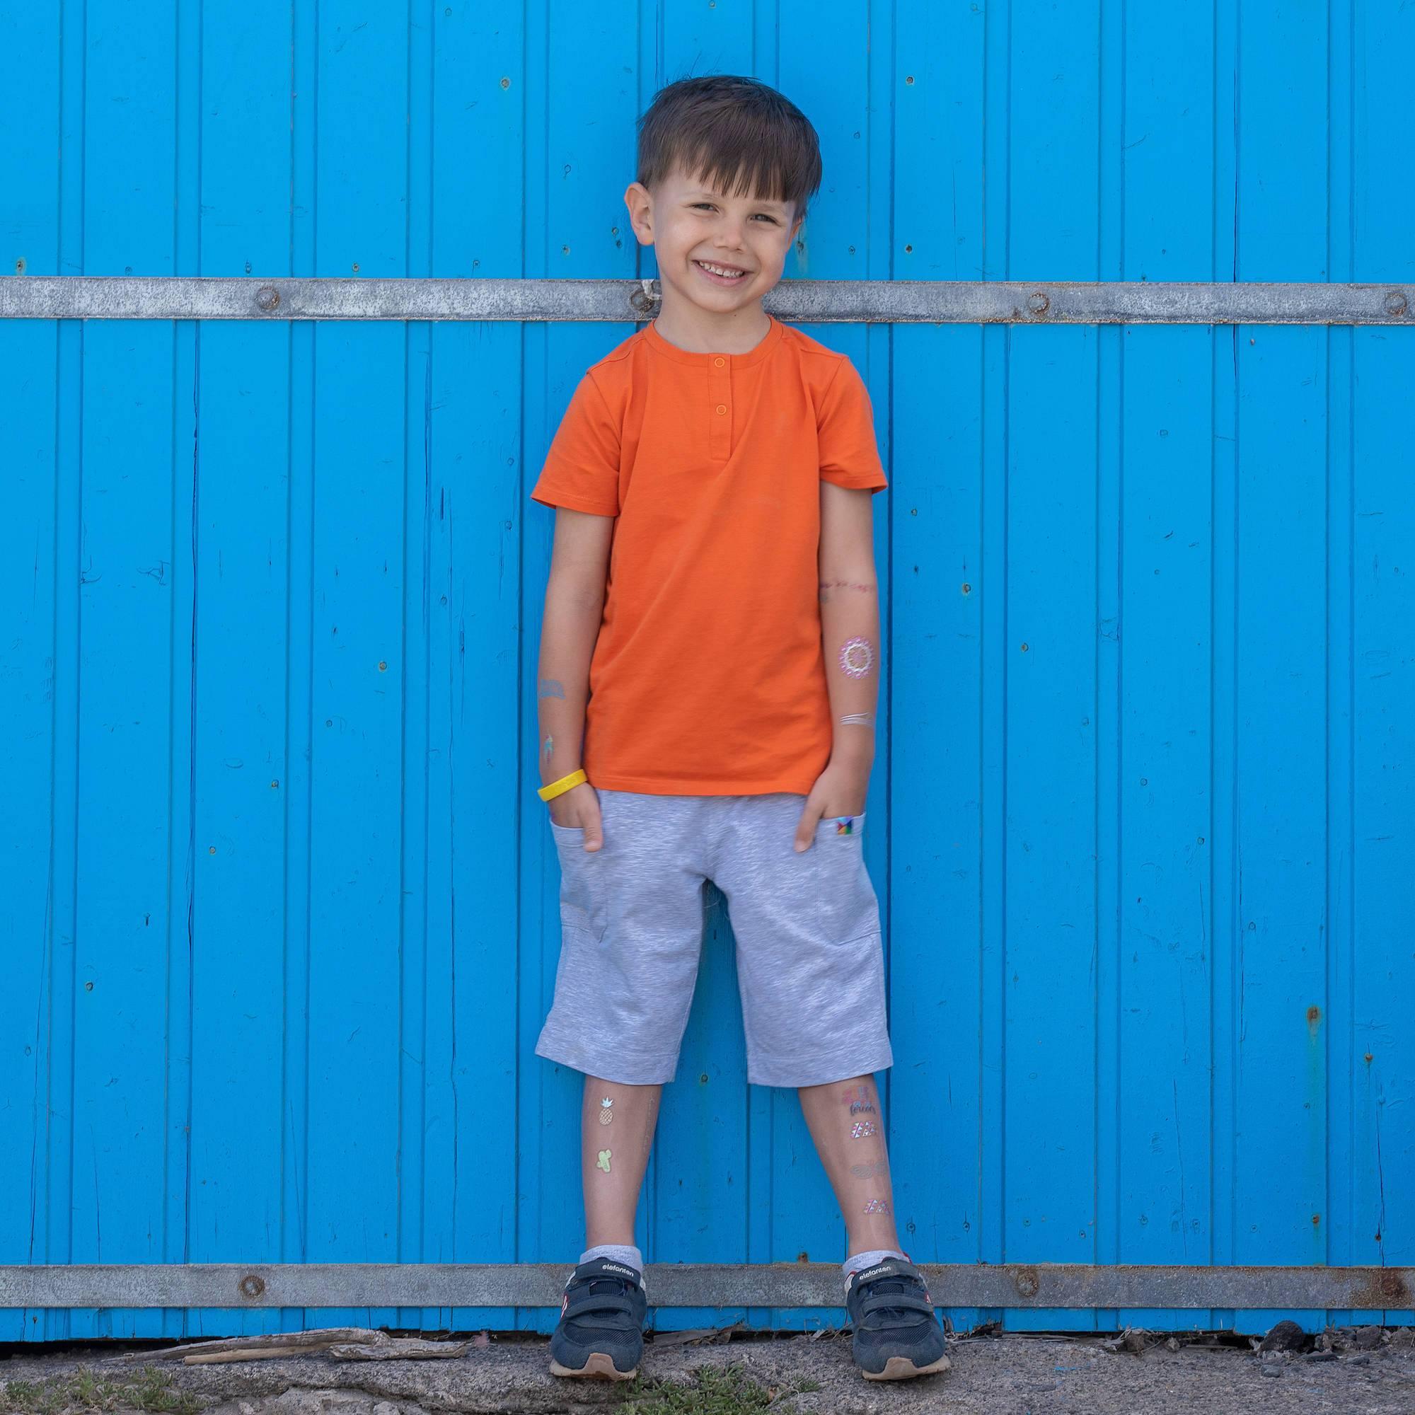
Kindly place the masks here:
[(809, 792), (833, 724), (821, 481), (889, 483), (843, 354), (782, 324), (693, 354), (645, 324), (591, 365), (532, 499), (617, 516), (584, 773), (657, 795)]

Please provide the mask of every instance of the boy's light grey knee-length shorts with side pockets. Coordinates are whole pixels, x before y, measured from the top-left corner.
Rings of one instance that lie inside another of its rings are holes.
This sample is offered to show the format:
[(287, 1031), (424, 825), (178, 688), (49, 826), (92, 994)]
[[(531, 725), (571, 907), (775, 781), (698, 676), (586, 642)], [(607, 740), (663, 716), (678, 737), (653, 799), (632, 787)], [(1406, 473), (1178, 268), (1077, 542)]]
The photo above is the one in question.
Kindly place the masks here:
[(893, 1063), (865, 815), (799, 855), (805, 797), (596, 788), (604, 843), (550, 822), (560, 964), (536, 1054), (625, 1085), (672, 1081), (698, 981), (705, 882), (727, 900), (756, 1085), (824, 1085)]

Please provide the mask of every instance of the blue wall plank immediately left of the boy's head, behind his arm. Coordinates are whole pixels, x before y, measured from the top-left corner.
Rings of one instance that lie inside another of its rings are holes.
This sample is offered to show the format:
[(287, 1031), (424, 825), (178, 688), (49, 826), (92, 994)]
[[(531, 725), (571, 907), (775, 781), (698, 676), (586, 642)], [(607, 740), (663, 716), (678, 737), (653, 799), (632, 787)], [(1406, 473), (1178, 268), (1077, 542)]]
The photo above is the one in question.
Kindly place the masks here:
[[(528, 17), (526, 170), (550, 174), (526, 187), (528, 241), (525, 273), (552, 277), (603, 276), (621, 262), (633, 273), (623, 191), (633, 181), (637, 116), (635, 31), (606, 11), (556, 3)], [(535, 120), (529, 120), (535, 115)], [(543, 123), (545, 126), (539, 126)], [(580, 1085), (577, 1071), (538, 1058), (535, 1040), (555, 989), (560, 949), (559, 865), (546, 824), (549, 812), (533, 795), (538, 712), (535, 665), (549, 569), (555, 512), (526, 497), (539, 475), (545, 450), (584, 369), (633, 333), (633, 324), (552, 325), (528, 337), (526, 468), (521, 504), (532, 531), (525, 548), (522, 603), (526, 606), (522, 659), (522, 791), (526, 833), (522, 845), (531, 869), (522, 894), (526, 944), (521, 971), (522, 1071), (519, 1097), (522, 1169), (516, 1186), (519, 1258), (524, 1262), (573, 1265), (584, 1241), (580, 1193)], [(536, 935), (536, 920), (541, 931)], [(638, 1232), (648, 1230), (648, 1199), (640, 1206)], [(567, 1268), (569, 1271), (569, 1268)], [(550, 1330), (555, 1310), (531, 1310), (524, 1323)]]

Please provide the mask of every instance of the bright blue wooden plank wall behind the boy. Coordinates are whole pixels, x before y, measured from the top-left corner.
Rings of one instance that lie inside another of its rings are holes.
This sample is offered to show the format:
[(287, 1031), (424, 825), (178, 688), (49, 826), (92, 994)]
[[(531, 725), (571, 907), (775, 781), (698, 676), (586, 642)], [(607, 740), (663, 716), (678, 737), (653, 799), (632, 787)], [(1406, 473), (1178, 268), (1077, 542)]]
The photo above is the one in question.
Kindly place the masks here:
[[(821, 133), (788, 279), (1415, 280), (1397, 0), (528, 10), (4, 0), (4, 269), (652, 275), (634, 117), (732, 71)], [(0, 327), (0, 1262), (579, 1252), (577, 1077), (532, 1056), (526, 492), (631, 328)], [(808, 331), (891, 478), (866, 849), (906, 1247), (1415, 1262), (1415, 334)], [(746, 1084), (729, 924), (642, 1241), (833, 1261), (795, 1097)], [(732, 1317), (829, 1313), (658, 1322)]]

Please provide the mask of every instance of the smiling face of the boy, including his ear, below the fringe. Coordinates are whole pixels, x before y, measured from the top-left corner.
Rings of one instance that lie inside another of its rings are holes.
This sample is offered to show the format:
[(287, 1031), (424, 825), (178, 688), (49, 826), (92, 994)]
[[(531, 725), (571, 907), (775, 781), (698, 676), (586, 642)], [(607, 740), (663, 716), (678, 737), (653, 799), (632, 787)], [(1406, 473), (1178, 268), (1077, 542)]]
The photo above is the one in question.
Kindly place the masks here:
[[(780, 201), (727, 197), (700, 177), (671, 173), (649, 192), (631, 183), (624, 192), (640, 245), (652, 246), (664, 289), (715, 314), (760, 300), (780, 279), (801, 216)], [(719, 270), (740, 270), (723, 276)]]

